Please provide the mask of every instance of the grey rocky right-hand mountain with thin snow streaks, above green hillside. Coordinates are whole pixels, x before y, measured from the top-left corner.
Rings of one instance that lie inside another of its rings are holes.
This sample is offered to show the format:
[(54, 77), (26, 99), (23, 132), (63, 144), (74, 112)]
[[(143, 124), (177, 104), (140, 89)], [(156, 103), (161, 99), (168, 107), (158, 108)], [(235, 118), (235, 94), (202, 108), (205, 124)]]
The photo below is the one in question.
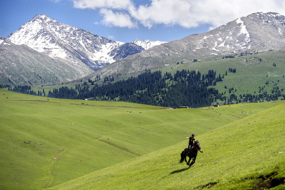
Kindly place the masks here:
[(250, 49), (266, 51), (279, 47), (285, 47), (285, 17), (273, 12), (259, 12), (237, 18), (209, 32), (191, 34), (130, 55), (97, 73), (139, 74), (145, 69), (163, 67), (178, 60), (189, 61), (209, 55), (238, 54)]

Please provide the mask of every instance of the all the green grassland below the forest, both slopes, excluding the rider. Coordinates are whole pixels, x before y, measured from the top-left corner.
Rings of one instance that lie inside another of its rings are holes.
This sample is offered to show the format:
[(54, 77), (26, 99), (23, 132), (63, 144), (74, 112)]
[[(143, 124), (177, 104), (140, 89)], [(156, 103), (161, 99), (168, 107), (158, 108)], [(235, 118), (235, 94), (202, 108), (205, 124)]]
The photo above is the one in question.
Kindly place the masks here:
[[(0, 94), (0, 189), (219, 189), (284, 177), (284, 101), (167, 109)], [(178, 161), (192, 133), (205, 152), (188, 168)]]

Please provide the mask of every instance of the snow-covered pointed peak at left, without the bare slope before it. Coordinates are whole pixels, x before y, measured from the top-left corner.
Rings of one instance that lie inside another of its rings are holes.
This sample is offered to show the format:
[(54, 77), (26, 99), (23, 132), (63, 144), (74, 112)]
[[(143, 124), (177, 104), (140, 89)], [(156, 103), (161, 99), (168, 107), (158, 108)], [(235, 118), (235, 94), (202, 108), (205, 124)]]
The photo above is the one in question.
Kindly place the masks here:
[(84, 63), (94, 71), (144, 50), (134, 43), (109, 40), (47, 15), (34, 16), (7, 40), (17, 45), (25, 44), (71, 65)]

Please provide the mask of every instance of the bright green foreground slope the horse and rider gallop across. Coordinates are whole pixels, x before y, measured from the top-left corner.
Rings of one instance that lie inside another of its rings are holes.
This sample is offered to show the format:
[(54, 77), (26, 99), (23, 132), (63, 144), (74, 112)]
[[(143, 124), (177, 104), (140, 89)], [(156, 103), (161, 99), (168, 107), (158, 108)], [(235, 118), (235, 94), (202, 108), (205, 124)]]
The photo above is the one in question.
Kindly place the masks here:
[(284, 110), (281, 104), (197, 136), (204, 153), (191, 168), (178, 164), (184, 141), (51, 189), (285, 189)]

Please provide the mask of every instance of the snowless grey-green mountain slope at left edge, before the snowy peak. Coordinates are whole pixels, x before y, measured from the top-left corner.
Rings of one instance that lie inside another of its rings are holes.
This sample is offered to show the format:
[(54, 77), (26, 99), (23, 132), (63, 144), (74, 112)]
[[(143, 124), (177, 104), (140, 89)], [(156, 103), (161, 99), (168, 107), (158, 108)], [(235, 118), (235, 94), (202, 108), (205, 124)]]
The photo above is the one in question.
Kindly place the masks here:
[(85, 64), (55, 60), (25, 44), (0, 37), (0, 83), (15, 85), (55, 84), (82, 78), (93, 71)]

